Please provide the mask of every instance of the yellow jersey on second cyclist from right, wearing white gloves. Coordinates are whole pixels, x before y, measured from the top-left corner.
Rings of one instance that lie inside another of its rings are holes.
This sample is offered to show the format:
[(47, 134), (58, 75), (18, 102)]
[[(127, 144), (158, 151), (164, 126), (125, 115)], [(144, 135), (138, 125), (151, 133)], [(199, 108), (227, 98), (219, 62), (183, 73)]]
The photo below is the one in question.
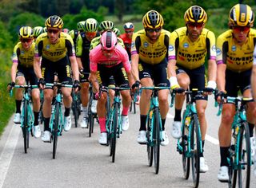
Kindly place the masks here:
[(190, 40), (186, 27), (174, 30), (170, 39), (170, 59), (176, 59), (177, 65), (186, 69), (197, 69), (206, 58), (216, 59), (215, 35), (209, 29), (202, 29), (198, 41)]

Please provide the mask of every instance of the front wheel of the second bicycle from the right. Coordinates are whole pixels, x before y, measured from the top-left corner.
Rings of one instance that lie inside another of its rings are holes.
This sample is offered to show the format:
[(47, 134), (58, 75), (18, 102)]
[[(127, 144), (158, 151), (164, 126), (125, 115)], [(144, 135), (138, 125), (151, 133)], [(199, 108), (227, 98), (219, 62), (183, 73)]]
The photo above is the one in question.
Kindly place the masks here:
[(200, 135), (199, 135), (199, 123), (198, 116), (194, 114), (192, 116), (193, 123), (192, 131), (190, 135), (190, 148), (192, 151), (191, 166), (192, 166), (192, 179), (194, 187), (198, 187), (200, 178)]

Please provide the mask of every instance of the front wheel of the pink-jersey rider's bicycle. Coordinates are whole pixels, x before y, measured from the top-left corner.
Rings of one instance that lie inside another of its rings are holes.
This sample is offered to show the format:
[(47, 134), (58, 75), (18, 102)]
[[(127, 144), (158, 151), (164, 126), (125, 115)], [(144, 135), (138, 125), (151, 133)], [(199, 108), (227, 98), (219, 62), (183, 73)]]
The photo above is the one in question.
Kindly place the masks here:
[(113, 121), (113, 140), (112, 140), (112, 163), (115, 159), (115, 151), (117, 145), (117, 128), (118, 128), (118, 103), (114, 104), (114, 121)]

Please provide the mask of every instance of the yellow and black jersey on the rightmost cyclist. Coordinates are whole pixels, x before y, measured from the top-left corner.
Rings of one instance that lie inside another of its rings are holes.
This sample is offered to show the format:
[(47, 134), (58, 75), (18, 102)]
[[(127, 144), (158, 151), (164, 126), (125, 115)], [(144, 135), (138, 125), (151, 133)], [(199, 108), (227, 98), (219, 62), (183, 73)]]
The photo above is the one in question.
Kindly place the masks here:
[(256, 29), (250, 29), (247, 41), (238, 45), (234, 41), (231, 29), (217, 38), (217, 64), (226, 64), (226, 69), (233, 72), (244, 72), (253, 66)]

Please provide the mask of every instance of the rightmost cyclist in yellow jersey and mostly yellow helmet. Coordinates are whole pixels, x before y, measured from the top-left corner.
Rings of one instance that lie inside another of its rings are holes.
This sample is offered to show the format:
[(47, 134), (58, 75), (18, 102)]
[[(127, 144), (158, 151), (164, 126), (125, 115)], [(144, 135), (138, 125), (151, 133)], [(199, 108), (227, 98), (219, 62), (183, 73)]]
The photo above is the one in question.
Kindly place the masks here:
[[(218, 96), (225, 94), (226, 96), (236, 97), (238, 96), (238, 90), (240, 90), (242, 96), (252, 97), (250, 74), (256, 41), (256, 30), (251, 28), (253, 25), (254, 13), (250, 6), (237, 4), (231, 8), (229, 15), (230, 29), (217, 38), (217, 84), (218, 91), (220, 91)], [(224, 103), (222, 121), (218, 129), (221, 157), (218, 180), (221, 182), (229, 181), (227, 157), (229, 156), (231, 124), (234, 120), (234, 114), (234, 104)], [(246, 118), (249, 124), (250, 136), (253, 136), (255, 116), (255, 102), (247, 103)]]

